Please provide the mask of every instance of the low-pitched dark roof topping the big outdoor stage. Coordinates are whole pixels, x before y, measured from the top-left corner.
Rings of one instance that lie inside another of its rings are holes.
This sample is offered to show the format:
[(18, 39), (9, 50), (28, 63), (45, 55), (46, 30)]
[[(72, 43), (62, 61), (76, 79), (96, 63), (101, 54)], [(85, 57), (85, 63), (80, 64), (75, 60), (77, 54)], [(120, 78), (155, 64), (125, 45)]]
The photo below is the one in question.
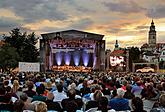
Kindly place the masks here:
[(104, 35), (95, 34), (90, 32), (84, 32), (79, 30), (65, 30), (60, 32), (52, 32), (52, 33), (45, 33), (41, 34), (43, 39), (54, 39), (56, 36), (60, 35), (63, 39), (88, 39), (88, 40), (102, 40)]

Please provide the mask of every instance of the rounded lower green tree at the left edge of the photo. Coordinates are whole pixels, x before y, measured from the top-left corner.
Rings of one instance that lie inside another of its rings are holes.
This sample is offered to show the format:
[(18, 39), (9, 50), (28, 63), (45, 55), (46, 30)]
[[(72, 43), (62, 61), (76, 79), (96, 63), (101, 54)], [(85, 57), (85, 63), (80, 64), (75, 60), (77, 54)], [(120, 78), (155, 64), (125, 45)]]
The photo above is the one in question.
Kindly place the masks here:
[(3, 72), (11, 72), (18, 67), (18, 62), (21, 60), (17, 49), (9, 44), (5, 44), (0, 48), (0, 68)]

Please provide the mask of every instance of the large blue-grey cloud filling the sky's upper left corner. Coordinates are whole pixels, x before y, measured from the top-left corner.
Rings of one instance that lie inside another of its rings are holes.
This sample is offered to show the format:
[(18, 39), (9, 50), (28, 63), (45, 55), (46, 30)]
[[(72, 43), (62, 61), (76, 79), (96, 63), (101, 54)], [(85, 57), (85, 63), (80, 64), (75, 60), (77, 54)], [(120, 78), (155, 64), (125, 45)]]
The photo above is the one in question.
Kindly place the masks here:
[(42, 19), (65, 20), (68, 15), (58, 8), (60, 0), (4, 0), (1, 1), (2, 8), (8, 8), (17, 16), (24, 18), (24, 21), (35, 22)]

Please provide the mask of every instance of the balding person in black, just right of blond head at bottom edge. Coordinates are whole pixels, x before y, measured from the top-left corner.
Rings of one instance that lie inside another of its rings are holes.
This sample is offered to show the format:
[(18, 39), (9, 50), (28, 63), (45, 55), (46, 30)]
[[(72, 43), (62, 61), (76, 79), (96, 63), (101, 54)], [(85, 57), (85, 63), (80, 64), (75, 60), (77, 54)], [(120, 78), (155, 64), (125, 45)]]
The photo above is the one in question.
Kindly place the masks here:
[(53, 102), (53, 99), (54, 99), (53, 93), (49, 92), (47, 96), (47, 100), (45, 101), (47, 105), (47, 109), (61, 112), (62, 109), (61, 109), (60, 104), (58, 102)]

